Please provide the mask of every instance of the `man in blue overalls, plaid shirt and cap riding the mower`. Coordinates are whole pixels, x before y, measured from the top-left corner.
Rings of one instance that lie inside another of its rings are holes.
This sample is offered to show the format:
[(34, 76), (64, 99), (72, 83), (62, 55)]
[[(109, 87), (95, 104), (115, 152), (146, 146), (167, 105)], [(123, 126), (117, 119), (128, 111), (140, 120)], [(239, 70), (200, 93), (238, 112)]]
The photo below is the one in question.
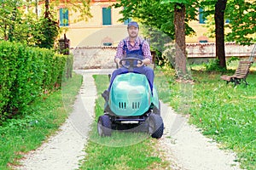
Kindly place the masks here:
[[(136, 57), (138, 59), (142, 59), (143, 63), (138, 62), (137, 67), (133, 69), (133, 72), (144, 74), (148, 78), (148, 82), (152, 90), (154, 82), (154, 71), (150, 67), (146, 66), (150, 65), (152, 61), (149, 44), (141, 37), (138, 37), (139, 26), (137, 22), (131, 21), (127, 26), (127, 31), (129, 37), (126, 37), (124, 40), (119, 42), (114, 61), (119, 65), (120, 59), (124, 59), (125, 57)], [(120, 67), (119, 69), (113, 71), (109, 88), (102, 94), (102, 97), (106, 101), (108, 100), (108, 93), (114, 78), (119, 74), (124, 74), (127, 72), (128, 70), (125, 67)]]

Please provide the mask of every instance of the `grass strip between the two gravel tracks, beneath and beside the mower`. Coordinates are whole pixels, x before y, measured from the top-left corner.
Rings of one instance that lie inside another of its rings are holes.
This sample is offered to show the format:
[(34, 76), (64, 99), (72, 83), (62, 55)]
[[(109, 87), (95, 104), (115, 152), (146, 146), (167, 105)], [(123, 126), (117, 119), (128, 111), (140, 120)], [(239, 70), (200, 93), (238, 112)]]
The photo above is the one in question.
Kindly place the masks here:
[[(96, 120), (103, 114), (104, 101), (100, 96), (108, 88), (108, 76), (94, 76), (98, 99)], [(102, 83), (106, 82), (106, 83)], [(170, 163), (163, 160), (157, 140), (146, 133), (114, 132), (111, 137), (99, 137), (96, 121), (92, 125), (86, 156), (80, 169), (168, 169)]]

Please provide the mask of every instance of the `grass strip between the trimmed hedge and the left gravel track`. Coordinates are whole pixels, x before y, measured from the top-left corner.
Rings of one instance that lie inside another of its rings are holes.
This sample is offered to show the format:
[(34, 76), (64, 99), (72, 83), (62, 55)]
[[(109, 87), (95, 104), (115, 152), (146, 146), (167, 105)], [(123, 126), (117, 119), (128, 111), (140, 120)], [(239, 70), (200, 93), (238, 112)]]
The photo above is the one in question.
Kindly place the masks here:
[(63, 82), (62, 90), (42, 95), (23, 116), (3, 123), (0, 127), (1, 170), (18, 166), (24, 153), (37, 149), (65, 122), (73, 110), (81, 80), (81, 76), (73, 75), (72, 79)]

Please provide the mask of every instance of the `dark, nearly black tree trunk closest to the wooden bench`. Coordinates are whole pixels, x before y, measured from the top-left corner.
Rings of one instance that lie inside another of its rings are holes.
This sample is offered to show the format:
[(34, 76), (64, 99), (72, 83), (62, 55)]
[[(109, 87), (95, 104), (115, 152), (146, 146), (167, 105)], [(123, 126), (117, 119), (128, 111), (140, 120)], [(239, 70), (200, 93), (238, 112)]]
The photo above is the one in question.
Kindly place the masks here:
[(216, 37), (216, 58), (219, 67), (226, 69), (225, 47), (224, 47), (224, 11), (227, 0), (218, 0), (215, 4), (215, 37)]

